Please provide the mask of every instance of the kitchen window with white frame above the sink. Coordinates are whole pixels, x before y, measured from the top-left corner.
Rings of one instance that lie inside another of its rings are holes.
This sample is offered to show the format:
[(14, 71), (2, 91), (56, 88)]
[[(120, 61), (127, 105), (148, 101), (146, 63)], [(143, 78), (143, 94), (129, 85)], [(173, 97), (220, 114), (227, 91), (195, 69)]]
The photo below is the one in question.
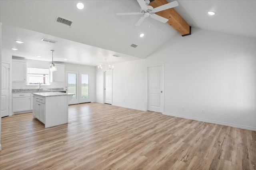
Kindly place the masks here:
[(39, 84), (49, 84), (49, 69), (28, 67), (28, 85)]

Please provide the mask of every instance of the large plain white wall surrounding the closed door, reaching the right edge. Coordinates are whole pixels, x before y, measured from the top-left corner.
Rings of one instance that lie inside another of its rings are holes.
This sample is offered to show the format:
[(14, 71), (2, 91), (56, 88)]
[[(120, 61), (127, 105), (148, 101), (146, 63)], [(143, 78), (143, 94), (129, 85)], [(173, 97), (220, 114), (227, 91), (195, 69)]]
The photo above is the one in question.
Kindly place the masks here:
[(113, 105), (146, 110), (146, 65), (162, 63), (164, 114), (256, 130), (255, 38), (177, 34), (146, 59), (115, 65)]

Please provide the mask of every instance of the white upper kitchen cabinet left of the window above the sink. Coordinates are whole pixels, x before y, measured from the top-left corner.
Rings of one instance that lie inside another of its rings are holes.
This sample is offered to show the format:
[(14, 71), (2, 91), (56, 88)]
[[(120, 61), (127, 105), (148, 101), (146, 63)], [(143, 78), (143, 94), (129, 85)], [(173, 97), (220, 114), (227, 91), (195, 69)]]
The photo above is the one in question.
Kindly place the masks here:
[(22, 60), (12, 60), (12, 81), (27, 80), (27, 63)]

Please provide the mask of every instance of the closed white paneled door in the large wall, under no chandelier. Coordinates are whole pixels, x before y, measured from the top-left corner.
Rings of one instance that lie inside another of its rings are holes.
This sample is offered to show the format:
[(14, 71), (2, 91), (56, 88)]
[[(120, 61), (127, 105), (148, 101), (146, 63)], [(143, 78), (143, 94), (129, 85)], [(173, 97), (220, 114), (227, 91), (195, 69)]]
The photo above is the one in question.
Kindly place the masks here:
[(163, 112), (163, 66), (148, 67), (148, 110)]

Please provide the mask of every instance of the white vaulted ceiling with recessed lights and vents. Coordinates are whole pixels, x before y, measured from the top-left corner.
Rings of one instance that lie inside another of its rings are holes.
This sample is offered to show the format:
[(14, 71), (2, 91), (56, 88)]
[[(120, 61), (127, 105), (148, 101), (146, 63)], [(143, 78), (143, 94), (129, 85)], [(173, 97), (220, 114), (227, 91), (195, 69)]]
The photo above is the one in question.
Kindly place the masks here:
[[(78, 0), (0, 0), (2, 49), (16, 47), (19, 50), (12, 55), (44, 61), (51, 61), (50, 49), (54, 49), (54, 61), (97, 65), (105, 58), (110, 63), (146, 58), (178, 34), (152, 18), (135, 27), (140, 16), (116, 16), (139, 12), (136, 0), (79, 1), (83, 10), (76, 8)], [(192, 27), (256, 38), (256, 0), (177, 1), (174, 9)], [(209, 10), (216, 15), (209, 16)], [(57, 16), (72, 20), (71, 28), (56, 24)], [(142, 32), (145, 36), (140, 38)], [(42, 38), (58, 42), (42, 42)], [(138, 47), (130, 47), (132, 43)]]

